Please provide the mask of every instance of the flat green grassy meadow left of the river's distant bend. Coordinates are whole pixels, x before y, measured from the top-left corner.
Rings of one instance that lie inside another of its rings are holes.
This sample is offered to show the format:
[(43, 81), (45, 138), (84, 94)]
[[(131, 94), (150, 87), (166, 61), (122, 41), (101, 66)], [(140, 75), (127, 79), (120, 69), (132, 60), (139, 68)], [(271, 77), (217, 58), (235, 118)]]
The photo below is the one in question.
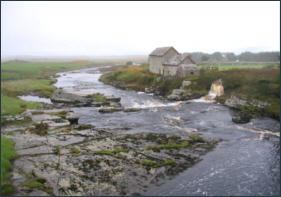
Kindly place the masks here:
[(50, 76), (54, 76), (58, 72), (101, 65), (107, 65), (107, 62), (78, 60), (31, 63), (18, 60), (1, 63), (1, 115), (16, 115), (25, 109), (42, 107), (41, 103), (23, 101), (17, 96), (28, 92), (37, 92), (38, 95), (52, 97), (53, 91), (56, 89), (52, 83), (56, 79), (50, 78)]

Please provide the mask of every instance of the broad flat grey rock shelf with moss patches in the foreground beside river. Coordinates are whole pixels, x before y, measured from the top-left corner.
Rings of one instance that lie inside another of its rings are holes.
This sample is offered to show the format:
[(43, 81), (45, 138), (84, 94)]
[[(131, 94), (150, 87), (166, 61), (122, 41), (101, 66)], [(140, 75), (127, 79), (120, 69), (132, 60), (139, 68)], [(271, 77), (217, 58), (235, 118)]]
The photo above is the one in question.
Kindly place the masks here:
[[(215, 146), (212, 140), (199, 143), (176, 134), (113, 135), (114, 132), (87, 129), (48, 135), (48, 146), (18, 150), (21, 157), (14, 161), (14, 167), (32, 173), (34, 178), (45, 178), (55, 195), (144, 195), (148, 188), (192, 167)], [(79, 140), (73, 143), (75, 138)], [(148, 145), (157, 147), (169, 141), (188, 142), (189, 146), (148, 149)], [(66, 144), (60, 144), (63, 142)], [(173, 162), (165, 164), (167, 160)]]

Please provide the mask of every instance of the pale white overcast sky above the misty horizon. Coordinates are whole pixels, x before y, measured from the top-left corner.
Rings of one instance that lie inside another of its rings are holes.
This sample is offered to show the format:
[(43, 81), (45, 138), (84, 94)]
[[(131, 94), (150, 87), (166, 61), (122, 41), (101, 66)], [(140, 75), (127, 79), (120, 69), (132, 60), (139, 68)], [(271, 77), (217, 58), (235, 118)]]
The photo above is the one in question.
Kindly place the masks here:
[(280, 2), (3, 2), (1, 57), (280, 51)]

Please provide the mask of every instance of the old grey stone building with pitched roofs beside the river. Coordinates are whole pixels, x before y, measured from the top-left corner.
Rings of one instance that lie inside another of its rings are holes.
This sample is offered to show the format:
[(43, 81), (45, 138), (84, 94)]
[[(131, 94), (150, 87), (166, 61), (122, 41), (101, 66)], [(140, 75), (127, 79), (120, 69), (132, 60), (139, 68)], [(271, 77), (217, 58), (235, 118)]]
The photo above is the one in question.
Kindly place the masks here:
[(150, 72), (164, 76), (199, 75), (197, 64), (188, 55), (181, 55), (173, 47), (156, 48), (149, 54), (149, 63)]

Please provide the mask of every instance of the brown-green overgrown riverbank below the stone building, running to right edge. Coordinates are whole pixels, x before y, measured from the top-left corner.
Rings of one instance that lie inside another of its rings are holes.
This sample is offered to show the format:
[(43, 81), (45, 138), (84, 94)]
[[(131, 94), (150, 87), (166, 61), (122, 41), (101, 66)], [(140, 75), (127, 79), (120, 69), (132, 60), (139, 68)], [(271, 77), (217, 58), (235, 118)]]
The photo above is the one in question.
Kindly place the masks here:
[[(147, 66), (129, 66), (111, 73), (104, 74), (100, 81), (127, 90), (144, 91), (146, 87), (162, 89), (162, 95), (171, 95), (173, 89), (179, 89), (183, 81), (191, 84), (184, 91), (184, 100), (196, 99), (208, 94), (211, 84), (222, 79), (225, 94), (217, 97), (216, 101), (227, 104), (231, 95), (243, 98), (247, 104), (238, 102), (228, 105), (243, 113), (265, 115), (280, 120), (280, 68), (265, 67), (262, 69), (236, 69), (228, 72), (206, 71), (199, 76), (187, 78), (171, 78), (163, 80), (159, 75), (149, 73)], [(154, 89), (155, 89), (154, 88)], [(164, 97), (165, 98), (165, 97)], [(253, 103), (266, 103), (266, 106)]]

